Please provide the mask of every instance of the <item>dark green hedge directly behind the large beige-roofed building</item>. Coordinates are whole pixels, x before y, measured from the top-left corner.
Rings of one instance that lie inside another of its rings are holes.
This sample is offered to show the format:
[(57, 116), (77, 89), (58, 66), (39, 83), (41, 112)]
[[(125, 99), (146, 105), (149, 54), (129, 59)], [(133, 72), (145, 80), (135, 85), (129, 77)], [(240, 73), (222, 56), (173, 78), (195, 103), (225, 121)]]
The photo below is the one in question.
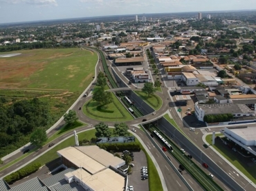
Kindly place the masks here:
[(110, 151), (140, 150), (140, 143), (98, 143), (99, 148)]

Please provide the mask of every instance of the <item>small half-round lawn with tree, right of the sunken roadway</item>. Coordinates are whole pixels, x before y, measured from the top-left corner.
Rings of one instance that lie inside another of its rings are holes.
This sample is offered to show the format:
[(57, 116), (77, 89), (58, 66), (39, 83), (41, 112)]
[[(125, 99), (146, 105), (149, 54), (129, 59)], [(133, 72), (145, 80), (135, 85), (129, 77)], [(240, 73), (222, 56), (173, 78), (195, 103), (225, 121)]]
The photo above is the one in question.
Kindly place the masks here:
[(134, 91), (141, 99), (143, 99), (145, 102), (147, 102), (154, 110), (158, 110), (161, 108), (163, 101), (158, 95), (154, 94), (151, 95), (150, 97), (147, 97), (147, 94), (145, 92), (141, 91)]

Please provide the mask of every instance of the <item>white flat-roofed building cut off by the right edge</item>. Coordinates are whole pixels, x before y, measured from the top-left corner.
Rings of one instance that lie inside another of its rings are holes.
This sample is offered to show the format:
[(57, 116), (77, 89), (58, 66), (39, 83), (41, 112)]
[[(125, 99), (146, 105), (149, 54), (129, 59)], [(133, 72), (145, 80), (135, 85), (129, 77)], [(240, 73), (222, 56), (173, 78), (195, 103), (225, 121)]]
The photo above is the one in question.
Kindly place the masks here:
[(256, 156), (256, 127), (225, 128), (221, 132), (231, 141)]

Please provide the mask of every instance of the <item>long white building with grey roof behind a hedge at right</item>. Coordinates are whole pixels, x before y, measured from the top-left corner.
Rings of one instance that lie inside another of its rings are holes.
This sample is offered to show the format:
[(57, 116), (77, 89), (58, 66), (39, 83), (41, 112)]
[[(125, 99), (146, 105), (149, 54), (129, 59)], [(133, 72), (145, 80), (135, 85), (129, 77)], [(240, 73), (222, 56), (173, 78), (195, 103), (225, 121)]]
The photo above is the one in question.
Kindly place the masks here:
[(245, 104), (235, 103), (214, 103), (214, 104), (194, 104), (194, 113), (199, 121), (203, 121), (206, 114), (232, 114), (234, 117), (253, 117), (255, 112), (250, 110)]

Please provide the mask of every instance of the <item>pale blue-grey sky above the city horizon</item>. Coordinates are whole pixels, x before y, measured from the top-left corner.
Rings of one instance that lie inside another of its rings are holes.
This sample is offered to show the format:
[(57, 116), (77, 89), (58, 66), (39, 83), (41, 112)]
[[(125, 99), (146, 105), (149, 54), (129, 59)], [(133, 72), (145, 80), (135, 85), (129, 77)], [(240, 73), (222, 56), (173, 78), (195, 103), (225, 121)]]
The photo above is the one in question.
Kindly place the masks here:
[(0, 23), (251, 9), (256, 9), (256, 0), (0, 0)]

